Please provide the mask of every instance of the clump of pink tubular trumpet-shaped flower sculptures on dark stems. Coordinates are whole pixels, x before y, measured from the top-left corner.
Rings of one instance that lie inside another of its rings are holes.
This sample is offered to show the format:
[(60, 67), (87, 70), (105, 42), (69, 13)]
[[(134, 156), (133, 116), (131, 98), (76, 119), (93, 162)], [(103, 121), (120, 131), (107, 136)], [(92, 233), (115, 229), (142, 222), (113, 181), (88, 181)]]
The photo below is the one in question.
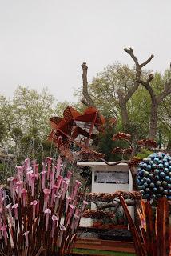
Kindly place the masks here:
[[(39, 172), (40, 170), (40, 172)], [(77, 236), (87, 202), (81, 182), (64, 175), (62, 159), (39, 166), (26, 158), (0, 188), (0, 255), (66, 255)], [(9, 188), (9, 189), (8, 189)], [(79, 198), (80, 199), (80, 198)]]

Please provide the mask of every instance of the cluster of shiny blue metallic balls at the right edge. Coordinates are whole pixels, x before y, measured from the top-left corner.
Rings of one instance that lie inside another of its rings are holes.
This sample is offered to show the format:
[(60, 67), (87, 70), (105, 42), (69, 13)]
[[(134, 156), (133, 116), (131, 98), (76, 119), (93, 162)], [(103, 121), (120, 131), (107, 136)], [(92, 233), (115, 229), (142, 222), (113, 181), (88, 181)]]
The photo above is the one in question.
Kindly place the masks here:
[(171, 156), (158, 152), (144, 158), (137, 169), (137, 185), (142, 198), (150, 200), (166, 195), (170, 199)]

